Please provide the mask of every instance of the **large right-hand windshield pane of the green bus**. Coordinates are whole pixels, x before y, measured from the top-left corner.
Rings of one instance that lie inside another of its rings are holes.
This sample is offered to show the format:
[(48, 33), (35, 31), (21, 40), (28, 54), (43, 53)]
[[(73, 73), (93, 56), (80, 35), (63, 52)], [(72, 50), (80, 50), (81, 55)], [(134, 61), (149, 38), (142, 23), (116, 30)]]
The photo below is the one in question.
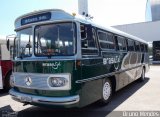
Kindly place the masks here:
[(35, 27), (36, 56), (71, 56), (75, 54), (75, 24), (55, 23)]

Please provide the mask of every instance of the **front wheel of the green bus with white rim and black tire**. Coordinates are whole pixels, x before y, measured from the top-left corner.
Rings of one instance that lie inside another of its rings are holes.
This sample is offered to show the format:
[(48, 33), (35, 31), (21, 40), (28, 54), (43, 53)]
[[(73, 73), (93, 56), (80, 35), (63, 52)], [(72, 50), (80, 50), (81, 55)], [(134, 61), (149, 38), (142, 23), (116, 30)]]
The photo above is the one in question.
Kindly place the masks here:
[(104, 106), (108, 104), (112, 97), (112, 83), (109, 79), (104, 79), (102, 86), (102, 98), (100, 99), (100, 105)]

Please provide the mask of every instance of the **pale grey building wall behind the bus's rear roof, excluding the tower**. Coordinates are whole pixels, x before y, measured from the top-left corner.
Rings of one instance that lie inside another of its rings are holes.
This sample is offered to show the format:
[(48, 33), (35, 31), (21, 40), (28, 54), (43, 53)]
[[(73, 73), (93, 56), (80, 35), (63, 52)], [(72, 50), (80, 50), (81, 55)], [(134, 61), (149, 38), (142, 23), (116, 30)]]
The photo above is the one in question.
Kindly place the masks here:
[(160, 40), (160, 21), (113, 26), (147, 42)]

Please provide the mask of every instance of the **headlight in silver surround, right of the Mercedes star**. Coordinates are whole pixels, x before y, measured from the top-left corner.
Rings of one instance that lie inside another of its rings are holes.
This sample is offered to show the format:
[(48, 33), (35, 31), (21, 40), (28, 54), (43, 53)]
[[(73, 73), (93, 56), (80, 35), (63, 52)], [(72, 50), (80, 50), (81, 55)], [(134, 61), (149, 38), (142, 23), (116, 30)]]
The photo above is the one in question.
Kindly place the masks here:
[(70, 74), (55, 74), (48, 77), (48, 86), (53, 90), (70, 90)]

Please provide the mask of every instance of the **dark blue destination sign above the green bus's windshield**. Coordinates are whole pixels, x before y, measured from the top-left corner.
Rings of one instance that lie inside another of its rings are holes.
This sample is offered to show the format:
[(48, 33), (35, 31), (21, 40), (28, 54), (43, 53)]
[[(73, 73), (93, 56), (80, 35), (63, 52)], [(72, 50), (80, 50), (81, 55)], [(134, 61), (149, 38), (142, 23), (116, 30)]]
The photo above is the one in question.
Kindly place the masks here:
[(30, 23), (40, 22), (40, 21), (46, 21), (51, 19), (51, 13), (42, 13), (38, 15), (33, 15), (29, 17), (25, 17), (21, 20), (21, 25), (26, 25)]

